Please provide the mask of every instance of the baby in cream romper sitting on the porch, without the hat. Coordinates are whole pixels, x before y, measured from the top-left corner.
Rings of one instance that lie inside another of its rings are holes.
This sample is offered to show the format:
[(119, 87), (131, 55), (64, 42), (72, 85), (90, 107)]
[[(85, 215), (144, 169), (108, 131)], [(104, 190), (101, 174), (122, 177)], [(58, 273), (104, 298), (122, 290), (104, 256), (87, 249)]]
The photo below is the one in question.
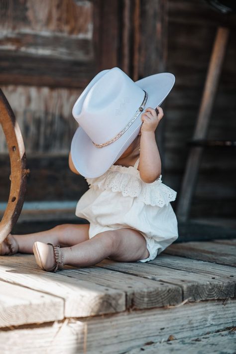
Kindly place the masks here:
[[(39, 267), (55, 272), (66, 264), (85, 267), (105, 258), (145, 262), (172, 243), (178, 231), (169, 202), (175, 199), (176, 192), (161, 181), (155, 129), (163, 110), (157, 109), (158, 114), (155, 109), (146, 108), (139, 134), (103, 176), (87, 178), (90, 189), (79, 200), (76, 215), (88, 219), (90, 224), (65, 224), (34, 234), (10, 234), (0, 244), (0, 255), (34, 253)], [(71, 152), (69, 167), (79, 174)], [(102, 185), (102, 179), (108, 175), (112, 176), (111, 181), (120, 181), (117, 191)], [(96, 183), (100, 183), (99, 188)], [(131, 186), (128, 192), (127, 186)]]

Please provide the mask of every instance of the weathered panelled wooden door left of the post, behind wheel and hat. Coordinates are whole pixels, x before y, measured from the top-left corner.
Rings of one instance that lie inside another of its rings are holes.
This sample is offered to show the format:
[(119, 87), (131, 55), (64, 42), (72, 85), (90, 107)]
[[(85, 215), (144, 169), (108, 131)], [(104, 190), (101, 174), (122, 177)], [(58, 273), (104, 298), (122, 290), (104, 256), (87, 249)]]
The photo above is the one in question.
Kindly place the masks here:
[[(87, 190), (68, 166), (72, 107), (97, 72), (116, 66), (119, 1), (0, 0), (0, 87), (27, 157), (25, 201), (76, 200)], [(0, 202), (10, 165), (0, 127)]]

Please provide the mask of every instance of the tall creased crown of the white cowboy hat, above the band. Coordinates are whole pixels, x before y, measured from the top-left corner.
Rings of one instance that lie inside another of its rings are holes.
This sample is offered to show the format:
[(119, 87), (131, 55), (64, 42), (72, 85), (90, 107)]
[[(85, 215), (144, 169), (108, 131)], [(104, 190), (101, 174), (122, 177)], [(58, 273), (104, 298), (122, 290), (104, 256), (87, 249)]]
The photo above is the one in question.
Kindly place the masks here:
[(116, 136), (135, 114), (144, 91), (117, 67), (102, 71), (92, 81), (72, 114), (94, 143), (103, 144)]

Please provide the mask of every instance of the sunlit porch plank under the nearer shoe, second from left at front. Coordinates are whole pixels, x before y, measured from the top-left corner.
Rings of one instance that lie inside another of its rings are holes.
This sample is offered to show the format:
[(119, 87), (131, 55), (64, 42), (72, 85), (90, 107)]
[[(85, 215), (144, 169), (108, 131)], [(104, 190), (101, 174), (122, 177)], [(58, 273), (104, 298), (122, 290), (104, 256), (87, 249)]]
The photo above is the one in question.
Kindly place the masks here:
[(125, 293), (67, 276), (66, 271), (41, 270), (33, 255), (0, 257), (0, 280), (64, 299), (65, 317), (86, 317), (125, 310)]

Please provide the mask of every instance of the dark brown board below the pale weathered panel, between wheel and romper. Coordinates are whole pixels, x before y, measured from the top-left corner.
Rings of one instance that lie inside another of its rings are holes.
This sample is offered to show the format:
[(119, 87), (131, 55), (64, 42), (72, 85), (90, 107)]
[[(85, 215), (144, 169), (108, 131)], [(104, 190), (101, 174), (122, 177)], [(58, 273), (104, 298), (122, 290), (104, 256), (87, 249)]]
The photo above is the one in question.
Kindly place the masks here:
[[(7, 202), (10, 186), (9, 157), (0, 155), (0, 202)], [(75, 201), (88, 190), (85, 178), (71, 172), (66, 155), (27, 155), (27, 180), (25, 201)]]

